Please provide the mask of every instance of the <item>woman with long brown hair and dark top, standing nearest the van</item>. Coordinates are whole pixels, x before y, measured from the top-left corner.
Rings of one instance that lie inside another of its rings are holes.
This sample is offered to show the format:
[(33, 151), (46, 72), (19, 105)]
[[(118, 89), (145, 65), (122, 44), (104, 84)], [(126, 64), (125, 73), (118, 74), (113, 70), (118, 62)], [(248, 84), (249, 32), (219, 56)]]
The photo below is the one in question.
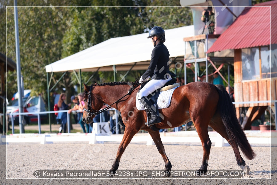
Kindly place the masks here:
[[(66, 99), (66, 95), (64, 93), (60, 94), (59, 100), (58, 100), (58, 108), (59, 110), (67, 110), (68, 107), (71, 104), (66, 105), (66, 103), (64, 102), (64, 100)], [(67, 114), (66, 112), (63, 113), (58, 113), (58, 116), (56, 118), (58, 120), (58, 122), (61, 122), (61, 127), (59, 128), (59, 133), (66, 132), (66, 123), (67, 123)]]

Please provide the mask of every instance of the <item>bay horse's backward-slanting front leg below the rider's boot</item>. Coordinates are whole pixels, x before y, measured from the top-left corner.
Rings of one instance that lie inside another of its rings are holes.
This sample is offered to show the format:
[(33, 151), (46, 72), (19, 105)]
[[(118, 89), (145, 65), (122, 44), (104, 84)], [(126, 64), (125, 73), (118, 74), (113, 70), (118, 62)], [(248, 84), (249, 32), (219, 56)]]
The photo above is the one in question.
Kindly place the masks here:
[(171, 165), (171, 162), (169, 161), (169, 159), (167, 157), (167, 154), (165, 153), (163, 142), (161, 140), (161, 136), (160, 136), (159, 131), (148, 131), (148, 132), (151, 135), (151, 138), (153, 139), (153, 141), (155, 142), (155, 145), (156, 145), (159, 153), (163, 157), (164, 164), (165, 164), (165, 171), (164, 172), (166, 172), (166, 174), (170, 175), (172, 165)]

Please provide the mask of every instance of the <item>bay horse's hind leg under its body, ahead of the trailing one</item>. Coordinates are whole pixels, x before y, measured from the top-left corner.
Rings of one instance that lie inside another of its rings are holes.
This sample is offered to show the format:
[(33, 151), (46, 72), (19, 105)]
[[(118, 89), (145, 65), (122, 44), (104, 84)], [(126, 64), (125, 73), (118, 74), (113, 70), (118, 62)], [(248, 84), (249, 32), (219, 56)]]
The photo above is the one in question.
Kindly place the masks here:
[[(203, 147), (203, 158), (202, 158), (202, 165), (200, 169), (198, 170), (200, 174), (204, 174), (207, 172), (208, 168), (208, 160), (210, 156), (210, 151), (211, 151), (211, 140), (208, 134), (208, 125), (200, 125), (200, 122), (194, 122), (195, 124), (195, 129), (198, 133), (198, 136), (201, 140), (202, 147)], [(202, 123), (205, 123), (202, 121)]]

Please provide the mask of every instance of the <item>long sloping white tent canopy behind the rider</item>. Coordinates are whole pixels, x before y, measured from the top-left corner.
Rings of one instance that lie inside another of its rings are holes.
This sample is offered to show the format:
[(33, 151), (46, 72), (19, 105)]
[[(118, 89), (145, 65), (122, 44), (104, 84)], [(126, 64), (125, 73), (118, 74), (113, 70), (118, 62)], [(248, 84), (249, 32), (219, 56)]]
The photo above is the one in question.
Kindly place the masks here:
[[(185, 53), (184, 37), (194, 35), (194, 26), (185, 26), (165, 30), (166, 42), (170, 58), (183, 56)], [(146, 69), (151, 60), (153, 45), (147, 39), (148, 33), (108, 39), (83, 51), (46, 65), (46, 72), (65, 72), (82, 69), (82, 71), (127, 71), (137, 63), (134, 70)], [(119, 68), (118, 68), (119, 67)]]

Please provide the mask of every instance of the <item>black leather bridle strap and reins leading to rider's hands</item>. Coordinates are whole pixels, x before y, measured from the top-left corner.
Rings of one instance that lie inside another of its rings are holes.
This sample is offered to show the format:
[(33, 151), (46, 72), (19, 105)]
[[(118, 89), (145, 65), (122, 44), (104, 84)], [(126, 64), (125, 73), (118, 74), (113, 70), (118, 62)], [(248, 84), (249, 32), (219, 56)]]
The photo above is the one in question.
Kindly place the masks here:
[[(92, 90), (92, 86), (90, 86), (90, 92), (87, 92), (86, 94), (88, 94), (88, 102), (87, 102), (87, 109), (84, 108), (84, 111), (87, 112), (88, 114), (88, 117), (92, 117), (92, 116), (96, 116), (108, 109), (111, 108), (111, 105), (114, 105), (115, 103), (117, 103), (118, 101), (120, 101), (122, 98), (126, 97), (127, 95), (130, 95), (133, 90), (135, 88), (137, 88), (139, 86), (139, 83), (138, 83), (138, 80), (139, 78), (137, 78), (134, 82), (134, 84), (131, 86), (131, 88), (129, 89), (128, 93), (126, 95), (124, 95), (123, 97), (119, 98), (117, 101), (115, 101), (114, 103), (110, 104), (109, 106), (105, 107), (104, 109), (100, 110), (100, 111), (97, 111), (97, 112), (94, 112), (91, 108), (91, 90)], [(91, 110), (90, 110), (91, 109)]]

